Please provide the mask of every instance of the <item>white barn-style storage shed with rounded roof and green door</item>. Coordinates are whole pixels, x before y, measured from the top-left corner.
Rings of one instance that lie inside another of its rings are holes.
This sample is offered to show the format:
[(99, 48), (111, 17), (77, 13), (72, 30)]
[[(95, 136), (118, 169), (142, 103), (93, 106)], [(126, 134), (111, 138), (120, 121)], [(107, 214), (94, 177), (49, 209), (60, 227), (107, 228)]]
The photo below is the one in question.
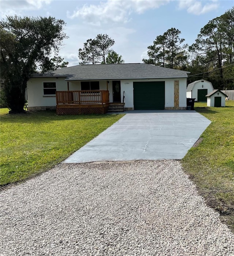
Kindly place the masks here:
[(186, 97), (194, 98), (195, 101), (207, 101), (205, 96), (211, 93), (213, 90), (214, 88), (211, 82), (208, 82), (204, 79), (194, 81), (188, 85), (186, 89)]

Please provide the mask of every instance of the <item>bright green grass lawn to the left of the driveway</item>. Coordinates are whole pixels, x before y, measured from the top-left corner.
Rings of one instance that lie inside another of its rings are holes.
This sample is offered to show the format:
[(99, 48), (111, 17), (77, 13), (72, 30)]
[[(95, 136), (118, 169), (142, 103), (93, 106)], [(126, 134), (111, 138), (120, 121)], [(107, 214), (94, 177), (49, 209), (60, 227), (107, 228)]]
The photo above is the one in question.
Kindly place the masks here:
[(123, 116), (7, 113), (0, 109), (0, 185), (49, 170)]

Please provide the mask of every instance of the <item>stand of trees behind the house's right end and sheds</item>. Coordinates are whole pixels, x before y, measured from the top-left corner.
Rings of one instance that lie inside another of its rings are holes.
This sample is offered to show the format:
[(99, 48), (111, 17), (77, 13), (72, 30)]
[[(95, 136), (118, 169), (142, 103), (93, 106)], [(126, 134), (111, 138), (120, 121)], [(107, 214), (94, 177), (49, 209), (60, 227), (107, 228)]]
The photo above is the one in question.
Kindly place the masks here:
[(234, 89), (234, 7), (201, 28), (194, 44), (168, 29), (148, 47), (144, 63), (190, 71), (188, 83), (206, 79), (216, 89)]

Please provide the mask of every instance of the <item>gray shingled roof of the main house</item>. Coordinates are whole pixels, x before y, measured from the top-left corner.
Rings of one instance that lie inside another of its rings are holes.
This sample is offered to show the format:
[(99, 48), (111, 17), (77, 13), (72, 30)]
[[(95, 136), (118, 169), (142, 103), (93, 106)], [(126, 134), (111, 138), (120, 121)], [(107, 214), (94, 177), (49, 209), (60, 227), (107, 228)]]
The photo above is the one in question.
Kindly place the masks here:
[(77, 65), (60, 68), (32, 77), (66, 77), (65, 80), (114, 80), (149, 78), (187, 78), (187, 71), (152, 66), (144, 63)]

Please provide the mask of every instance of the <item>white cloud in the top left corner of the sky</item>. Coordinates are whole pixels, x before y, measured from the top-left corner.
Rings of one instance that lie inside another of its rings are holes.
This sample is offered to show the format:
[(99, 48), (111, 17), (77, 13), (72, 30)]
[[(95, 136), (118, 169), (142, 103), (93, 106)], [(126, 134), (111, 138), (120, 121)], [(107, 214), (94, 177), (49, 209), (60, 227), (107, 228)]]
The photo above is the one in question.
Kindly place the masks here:
[(1, 18), (6, 15), (21, 15), (22, 11), (39, 10), (51, 3), (51, 0), (1, 0)]

